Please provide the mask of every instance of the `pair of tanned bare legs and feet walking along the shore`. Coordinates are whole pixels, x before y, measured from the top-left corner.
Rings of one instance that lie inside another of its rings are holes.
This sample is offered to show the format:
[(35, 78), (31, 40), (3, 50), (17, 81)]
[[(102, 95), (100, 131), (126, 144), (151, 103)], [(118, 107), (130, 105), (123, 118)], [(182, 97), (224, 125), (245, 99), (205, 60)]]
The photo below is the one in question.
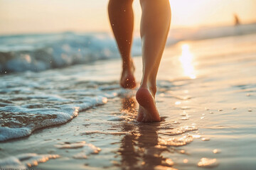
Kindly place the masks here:
[[(120, 85), (133, 89), (136, 86), (134, 64), (131, 57), (134, 15), (133, 0), (110, 0), (108, 11), (110, 24), (122, 56)], [(139, 122), (160, 121), (156, 108), (156, 75), (164, 52), (171, 23), (169, 0), (140, 0), (142, 6), (141, 37), (143, 76), (137, 91)]]

